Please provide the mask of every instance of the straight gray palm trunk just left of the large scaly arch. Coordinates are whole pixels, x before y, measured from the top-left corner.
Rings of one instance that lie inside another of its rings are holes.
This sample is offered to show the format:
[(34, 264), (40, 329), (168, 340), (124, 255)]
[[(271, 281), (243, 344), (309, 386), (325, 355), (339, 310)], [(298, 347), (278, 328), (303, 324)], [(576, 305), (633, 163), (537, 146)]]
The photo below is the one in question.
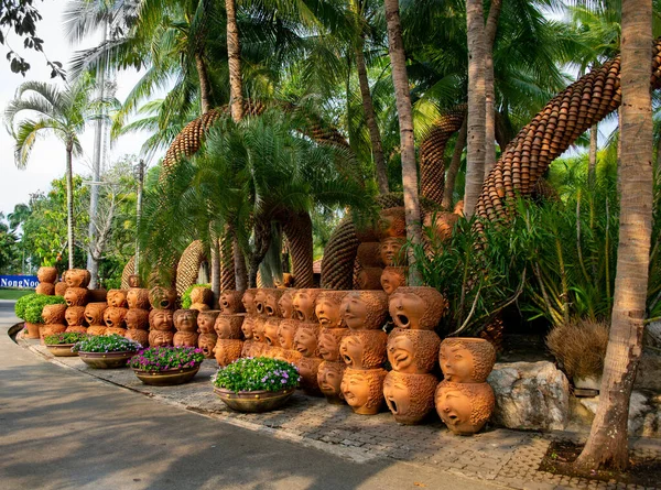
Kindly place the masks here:
[(468, 150), (464, 215), (470, 218), (485, 181), (485, 20), (481, 0), (466, 0), (468, 37)]

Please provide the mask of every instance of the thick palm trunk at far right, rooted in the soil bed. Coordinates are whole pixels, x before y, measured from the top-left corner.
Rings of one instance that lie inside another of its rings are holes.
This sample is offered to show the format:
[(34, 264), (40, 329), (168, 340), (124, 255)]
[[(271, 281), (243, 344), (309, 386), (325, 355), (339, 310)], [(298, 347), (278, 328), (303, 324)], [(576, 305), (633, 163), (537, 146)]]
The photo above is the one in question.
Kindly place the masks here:
[(652, 229), (652, 0), (624, 0), (620, 229), (599, 406), (577, 465), (626, 469), (629, 399), (642, 350)]

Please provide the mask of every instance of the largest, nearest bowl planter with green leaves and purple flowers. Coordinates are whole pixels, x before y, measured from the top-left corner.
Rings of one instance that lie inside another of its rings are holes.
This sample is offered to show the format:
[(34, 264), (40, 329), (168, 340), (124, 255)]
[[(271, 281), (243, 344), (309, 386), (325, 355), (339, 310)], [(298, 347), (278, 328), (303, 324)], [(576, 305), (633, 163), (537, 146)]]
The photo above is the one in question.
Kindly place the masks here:
[(238, 412), (267, 412), (282, 406), (301, 381), (299, 369), (266, 357), (237, 359), (212, 378), (214, 391)]

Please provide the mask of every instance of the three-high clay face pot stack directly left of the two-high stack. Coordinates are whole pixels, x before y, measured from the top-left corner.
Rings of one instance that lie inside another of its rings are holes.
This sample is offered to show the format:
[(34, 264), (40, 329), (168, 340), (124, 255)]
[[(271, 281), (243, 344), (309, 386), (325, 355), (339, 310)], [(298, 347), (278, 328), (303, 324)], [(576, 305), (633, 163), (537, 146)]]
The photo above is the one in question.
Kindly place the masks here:
[(434, 410), (438, 380), (431, 372), (441, 345), (434, 328), (445, 300), (433, 287), (398, 287), (388, 303), (395, 328), (388, 336), (392, 371), (383, 382), (383, 396), (398, 423), (418, 424)]

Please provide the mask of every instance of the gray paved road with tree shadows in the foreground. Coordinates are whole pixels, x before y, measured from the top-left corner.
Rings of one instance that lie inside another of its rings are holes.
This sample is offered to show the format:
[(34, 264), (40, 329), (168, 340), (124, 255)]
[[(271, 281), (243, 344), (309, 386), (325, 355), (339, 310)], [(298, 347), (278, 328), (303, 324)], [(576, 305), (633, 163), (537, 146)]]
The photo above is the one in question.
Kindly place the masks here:
[[(403, 462), (356, 464), (37, 358), (0, 301), (0, 489), (481, 489)], [(384, 431), (388, 428), (384, 427)]]

